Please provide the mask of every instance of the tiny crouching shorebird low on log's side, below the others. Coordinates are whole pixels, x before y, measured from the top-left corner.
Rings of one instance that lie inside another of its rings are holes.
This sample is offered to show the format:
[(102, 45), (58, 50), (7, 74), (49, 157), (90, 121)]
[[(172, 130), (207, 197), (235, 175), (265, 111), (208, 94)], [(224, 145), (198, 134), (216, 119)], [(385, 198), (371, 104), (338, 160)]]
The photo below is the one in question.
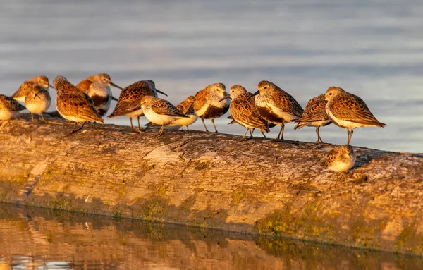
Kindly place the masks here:
[(338, 145), (331, 149), (324, 166), (331, 171), (348, 171), (355, 164), (355, 153), (351, 145)]

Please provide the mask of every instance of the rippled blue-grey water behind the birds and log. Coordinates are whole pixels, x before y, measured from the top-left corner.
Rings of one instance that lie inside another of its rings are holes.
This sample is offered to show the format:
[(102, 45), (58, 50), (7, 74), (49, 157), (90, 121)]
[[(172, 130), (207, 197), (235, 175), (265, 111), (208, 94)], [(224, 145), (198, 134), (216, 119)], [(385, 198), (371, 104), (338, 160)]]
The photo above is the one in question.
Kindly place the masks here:
[[(1, 92), (38, 74), (77, 83), (106, 72), (123, 87), (152, 79), (174, 104), (213, 82), (255, 92), (271, 80), (305, 106), (337, 85), (388, 124), (357, 130), (353, 145), (423, 152), (422, 13), (420, 0), (2, 0)], [(223, 133), (243, 134), (226, 118), (217, 122)], [(316, 141), (313, 128), (292, 127), (287, 139)], [(200, 121), (192, 128), (202, 129)], [(321, 136), (347, 139), (334, 125)]]

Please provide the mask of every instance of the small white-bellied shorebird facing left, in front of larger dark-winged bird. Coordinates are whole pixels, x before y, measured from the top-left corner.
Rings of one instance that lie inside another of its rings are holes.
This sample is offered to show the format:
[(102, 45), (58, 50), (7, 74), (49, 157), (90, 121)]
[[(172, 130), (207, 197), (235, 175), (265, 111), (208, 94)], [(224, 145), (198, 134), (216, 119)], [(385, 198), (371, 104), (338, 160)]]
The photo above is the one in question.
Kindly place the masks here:
[(176, 121), (178, 118), (190, 118), (190, 116), (186, 116), (167, 100), (159, 99), (158, 97), (142, 97), (141, 108), (149, 121), (156, 125), (161, 125), (158, 136), (163, 135), (165, 125)]

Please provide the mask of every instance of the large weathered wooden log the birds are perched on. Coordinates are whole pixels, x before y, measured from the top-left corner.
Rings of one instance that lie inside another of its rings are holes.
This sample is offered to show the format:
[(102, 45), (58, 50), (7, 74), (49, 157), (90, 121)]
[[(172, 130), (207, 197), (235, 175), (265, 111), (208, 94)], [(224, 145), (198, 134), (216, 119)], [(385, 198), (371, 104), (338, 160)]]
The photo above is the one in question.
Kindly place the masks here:
[(28, 119), (0, 129), (2, 201), (423, 254), (422, 154), (336, 174), (305, 142)]

